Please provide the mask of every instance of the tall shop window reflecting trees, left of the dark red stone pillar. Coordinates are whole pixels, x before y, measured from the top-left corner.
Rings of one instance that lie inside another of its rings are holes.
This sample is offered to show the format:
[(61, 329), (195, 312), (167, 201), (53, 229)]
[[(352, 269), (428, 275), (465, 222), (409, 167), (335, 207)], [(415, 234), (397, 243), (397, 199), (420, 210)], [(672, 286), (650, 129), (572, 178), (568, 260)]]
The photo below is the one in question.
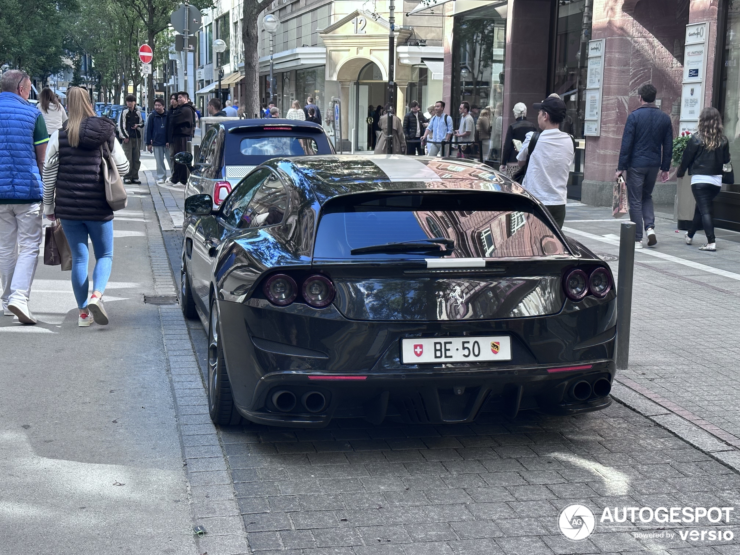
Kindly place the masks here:
[(456, 16), (453, 30), (452, 64), (459, 70), (452, 75), (450, 113), (457, 128), (462, 101), (470, 104), (476, 124), (480, 112), (488, 108), (491, 144), (487, 150), (494, 161), (501, 159), (507, 8), (508, 2), (500, 1)]

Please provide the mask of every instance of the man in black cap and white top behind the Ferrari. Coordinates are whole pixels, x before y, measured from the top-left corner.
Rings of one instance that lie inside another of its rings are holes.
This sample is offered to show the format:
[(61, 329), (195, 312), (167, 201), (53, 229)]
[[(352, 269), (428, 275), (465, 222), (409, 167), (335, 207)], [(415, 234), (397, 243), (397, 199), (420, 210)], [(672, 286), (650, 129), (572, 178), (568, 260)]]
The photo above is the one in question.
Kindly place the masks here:
[(547, 206), (558, 226), (565, 221), (568, 177), (576, 152), (576, 141), (559, 125), (567, 112), (560, 98), (548, 97), (534, 104), (541, 132), (528, 132), (519, 150), (519, 166), (527, 166), (522, 186)]

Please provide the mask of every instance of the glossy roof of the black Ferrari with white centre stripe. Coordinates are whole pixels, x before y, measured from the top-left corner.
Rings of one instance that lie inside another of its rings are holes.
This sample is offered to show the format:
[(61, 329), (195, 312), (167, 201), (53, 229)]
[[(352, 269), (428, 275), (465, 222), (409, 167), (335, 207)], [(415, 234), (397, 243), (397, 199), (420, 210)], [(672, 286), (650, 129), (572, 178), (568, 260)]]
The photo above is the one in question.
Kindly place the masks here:
[(323, 204), (340, 195), (408, 190), (505, 192), (533, 197), (517, 182), (485, 164), (461, 158), (404, 155), (322, 155), (269, 162), (303, 175)]

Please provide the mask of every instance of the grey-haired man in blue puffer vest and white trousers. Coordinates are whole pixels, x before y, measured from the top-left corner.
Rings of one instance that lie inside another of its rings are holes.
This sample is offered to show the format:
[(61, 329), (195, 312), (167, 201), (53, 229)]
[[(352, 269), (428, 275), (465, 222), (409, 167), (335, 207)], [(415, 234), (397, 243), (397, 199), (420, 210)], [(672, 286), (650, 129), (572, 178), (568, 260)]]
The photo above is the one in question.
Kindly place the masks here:
[(0, 280), (3, 314), (36, 323), (28, 309), (41, 244), (41, 168), (46, 122), (28, 102), (31, 79), (21, 70), (0, 78)]

